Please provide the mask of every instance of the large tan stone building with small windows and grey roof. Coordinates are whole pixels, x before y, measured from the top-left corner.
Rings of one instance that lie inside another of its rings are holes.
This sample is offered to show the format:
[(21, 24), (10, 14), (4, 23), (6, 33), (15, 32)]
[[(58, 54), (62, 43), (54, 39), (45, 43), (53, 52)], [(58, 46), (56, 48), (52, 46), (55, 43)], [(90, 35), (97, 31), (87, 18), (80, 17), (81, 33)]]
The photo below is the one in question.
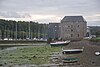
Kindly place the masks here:
[(65, 16), (61, 20), (61, 38), (79, 40), (86, 36), (87, 22), (82, 16)]

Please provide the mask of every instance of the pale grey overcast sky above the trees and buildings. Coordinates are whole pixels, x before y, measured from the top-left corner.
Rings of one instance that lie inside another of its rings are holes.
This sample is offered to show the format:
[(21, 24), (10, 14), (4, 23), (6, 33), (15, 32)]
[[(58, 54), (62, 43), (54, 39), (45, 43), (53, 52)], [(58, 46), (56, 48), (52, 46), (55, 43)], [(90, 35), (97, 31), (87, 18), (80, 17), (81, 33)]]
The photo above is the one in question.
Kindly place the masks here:
[(48, 23), (70, 15), (82, 15), (88, 25), (100, 25), (93, 22), (100, 21), (100, 0), (0, 0), (4, 19)]

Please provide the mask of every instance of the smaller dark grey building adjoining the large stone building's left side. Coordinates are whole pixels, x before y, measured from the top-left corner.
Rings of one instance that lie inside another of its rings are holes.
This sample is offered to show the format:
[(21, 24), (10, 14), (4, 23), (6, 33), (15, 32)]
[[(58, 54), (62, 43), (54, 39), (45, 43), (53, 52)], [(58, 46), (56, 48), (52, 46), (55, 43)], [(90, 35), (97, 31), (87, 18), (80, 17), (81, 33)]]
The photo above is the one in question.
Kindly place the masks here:
[(60, 23), (49, 23), (47, 38), (60, 38)]

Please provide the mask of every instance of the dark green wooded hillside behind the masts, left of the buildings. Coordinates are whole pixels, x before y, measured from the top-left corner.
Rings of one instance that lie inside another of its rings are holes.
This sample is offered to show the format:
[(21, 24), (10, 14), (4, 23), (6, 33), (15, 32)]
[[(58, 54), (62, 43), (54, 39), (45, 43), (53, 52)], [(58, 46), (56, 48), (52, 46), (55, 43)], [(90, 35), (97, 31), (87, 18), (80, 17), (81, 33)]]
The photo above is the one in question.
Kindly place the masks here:
[(46, 38), (47, 24), (0, 19), (0, 39)]

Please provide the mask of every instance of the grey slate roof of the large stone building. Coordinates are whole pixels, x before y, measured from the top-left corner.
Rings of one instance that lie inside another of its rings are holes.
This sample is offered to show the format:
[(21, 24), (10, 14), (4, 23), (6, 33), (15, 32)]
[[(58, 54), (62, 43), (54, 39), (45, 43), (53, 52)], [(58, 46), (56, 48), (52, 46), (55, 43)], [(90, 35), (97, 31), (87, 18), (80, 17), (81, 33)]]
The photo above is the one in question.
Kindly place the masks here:
[(62, 21), (68, 22), (84, 22), (83, 16), (65, 16)]

